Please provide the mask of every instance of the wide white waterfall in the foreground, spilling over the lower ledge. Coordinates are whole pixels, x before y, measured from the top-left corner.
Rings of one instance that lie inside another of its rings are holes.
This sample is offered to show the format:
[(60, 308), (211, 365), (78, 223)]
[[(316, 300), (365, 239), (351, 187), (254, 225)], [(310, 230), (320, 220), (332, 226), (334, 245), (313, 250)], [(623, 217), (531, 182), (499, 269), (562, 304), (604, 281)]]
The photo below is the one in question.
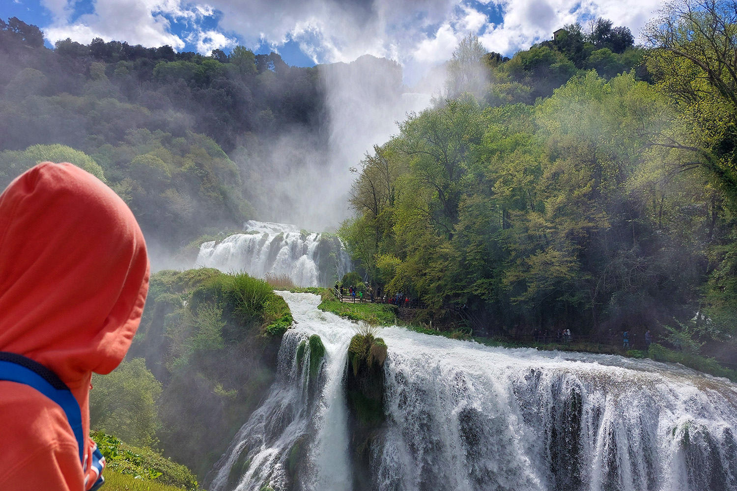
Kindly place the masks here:
[[(343, 372), (354, 324), (283, 293), (279, 380), (212, 491), (737, 490), (737, 385), (619, 356), (484, 347), (402, 328), (388, 345), (371, 482), (352, 482)], [(319, 375), (298, 364), (318, 334)]]

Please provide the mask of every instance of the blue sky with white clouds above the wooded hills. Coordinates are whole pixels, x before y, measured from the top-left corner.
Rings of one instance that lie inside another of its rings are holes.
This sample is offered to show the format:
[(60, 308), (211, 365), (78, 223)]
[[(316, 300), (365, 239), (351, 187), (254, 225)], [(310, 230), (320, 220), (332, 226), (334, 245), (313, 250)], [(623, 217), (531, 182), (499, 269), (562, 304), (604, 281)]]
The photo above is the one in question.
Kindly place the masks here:
[(514, 54), (562, 25), (599, 15), (635, 36), (659, 0), (6, 0), (0, 16), (58, 39), (94, 37), (209, 54), (241, 44), (279, 52), (290, 65), (351, 61), (361, 54), (427, 71), (458, 40), (479, 36), (489, 51)]

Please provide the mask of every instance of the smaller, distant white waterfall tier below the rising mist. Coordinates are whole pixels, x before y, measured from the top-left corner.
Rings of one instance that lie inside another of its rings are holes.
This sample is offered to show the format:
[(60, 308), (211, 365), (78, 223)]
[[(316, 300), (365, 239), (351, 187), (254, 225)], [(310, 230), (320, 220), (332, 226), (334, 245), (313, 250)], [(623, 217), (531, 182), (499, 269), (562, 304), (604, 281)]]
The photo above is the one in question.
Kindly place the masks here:
[(249, 220), (244, 233), (202, 244), (195, 265), (245, 271), (258, 278), (287, 275), (298, 286), (328, 286), (350, 269), (341, 246), (335, 236)]

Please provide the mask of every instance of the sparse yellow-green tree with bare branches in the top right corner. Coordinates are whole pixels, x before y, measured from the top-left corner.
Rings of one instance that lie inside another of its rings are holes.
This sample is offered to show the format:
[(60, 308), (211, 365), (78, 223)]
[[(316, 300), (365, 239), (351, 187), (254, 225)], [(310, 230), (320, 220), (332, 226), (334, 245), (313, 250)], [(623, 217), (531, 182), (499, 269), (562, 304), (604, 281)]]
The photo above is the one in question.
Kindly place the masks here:
[(680, 169), (710, 172), (737, 208), (737, 4), (674, 1), (645, 35), (649, 70), (683, 113), (677, 133), (653, 144), (685, 151)]

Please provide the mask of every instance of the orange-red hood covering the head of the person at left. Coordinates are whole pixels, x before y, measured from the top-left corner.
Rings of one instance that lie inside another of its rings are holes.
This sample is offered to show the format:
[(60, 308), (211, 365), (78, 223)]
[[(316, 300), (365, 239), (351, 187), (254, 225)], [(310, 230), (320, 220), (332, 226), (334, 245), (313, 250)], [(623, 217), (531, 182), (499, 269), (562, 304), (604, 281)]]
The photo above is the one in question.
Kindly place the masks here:
[(0, 350), (49, 367), (80, 403), (91, 372), (128, 351), (148, 278), (133, 213), (92, 174), (44, 162), (0, 195)]

